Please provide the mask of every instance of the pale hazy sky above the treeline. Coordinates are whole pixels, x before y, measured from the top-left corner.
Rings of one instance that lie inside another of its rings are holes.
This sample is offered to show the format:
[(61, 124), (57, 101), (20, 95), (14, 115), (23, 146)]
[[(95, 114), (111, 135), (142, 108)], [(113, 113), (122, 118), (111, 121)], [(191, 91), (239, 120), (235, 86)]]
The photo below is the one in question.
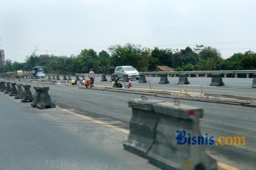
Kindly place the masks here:
[(5, 59), (78, 55), (114, 44), (220, 50), (223, 58), (256, 51), (254, 0), (0, 0)]

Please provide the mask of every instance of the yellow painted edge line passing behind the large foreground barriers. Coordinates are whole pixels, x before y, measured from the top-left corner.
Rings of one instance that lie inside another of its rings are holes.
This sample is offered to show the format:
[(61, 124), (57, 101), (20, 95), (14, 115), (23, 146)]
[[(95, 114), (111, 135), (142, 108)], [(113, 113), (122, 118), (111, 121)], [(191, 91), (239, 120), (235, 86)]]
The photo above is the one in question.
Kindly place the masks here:
[[(93, 121), (93, 122), (95, 122), (95, 123), (98, 123), (98, 124), (100, 124), (100, 125), (104, 125), (104, 126), (106, 126), (106, 127), (109, 127), (109, 128), (115, 129), (115, 130), (118, 130), (119, 132), (123, 132), (123, 133), (126, 133), (126, 134), (129, 134), (129, 133), (130, 133), (130, 131), (127, 130), (127, 129), (122, 129), (122, 128), (116, 127), (116, 126), (114, 126), (114, 125), (109, 125), (109, 124), (106, 123), (106, 122), (93, 119), (93, 118), (88, 117), (88, 116), (86, 116), (86, 115), (82, 115), (82, 114), (78, 114), (78, 113), (72, 112), (72, 111), (70, 111), (70, 110), (68, 110), (68, 109), (62, 109), (61, 107), (58, 107), (58, 106), (56, 106), (56, 107), (57, 107), (58, 109), (62, 110), (62, 111), (68, 112), (68, 113), (70, 113), (70, 114), (76, 115), (76, 116), (78, 116), (78, 117), (80, 117), (80, 118), (83, 118), (83, 119), (86, 119), (86, 120), (91, 120), (91, 121)], [(232, 167), (232, 166), (229, 166), (229, 165), (220, 163), (220, 162), (217, 162), (217, 166), (220, 167), (220, 168), (222, 168), (222, 169), (225, 169), (225, 170), (238, 170), (238, 168), (235, 168), (235, 167)]]

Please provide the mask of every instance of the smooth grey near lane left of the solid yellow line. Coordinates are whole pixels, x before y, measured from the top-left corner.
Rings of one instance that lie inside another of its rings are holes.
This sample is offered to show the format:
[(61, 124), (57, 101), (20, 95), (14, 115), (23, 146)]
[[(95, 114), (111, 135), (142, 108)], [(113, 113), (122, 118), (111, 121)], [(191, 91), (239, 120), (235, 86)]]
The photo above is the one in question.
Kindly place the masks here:
[(122, 148), (125, 133), (0, 94), (0, 169), (158, 169)]

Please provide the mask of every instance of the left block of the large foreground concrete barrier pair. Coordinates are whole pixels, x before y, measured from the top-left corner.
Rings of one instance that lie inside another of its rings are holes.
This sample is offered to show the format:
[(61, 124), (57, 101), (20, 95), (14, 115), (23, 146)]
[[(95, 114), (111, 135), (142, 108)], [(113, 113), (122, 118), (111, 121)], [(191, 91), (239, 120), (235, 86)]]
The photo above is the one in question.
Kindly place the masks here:
[(153, 112), (153, 104), (163, 101), (131, 99), (128, 106), (132, 108), (130, 134), (123, 142), (123, 148), (140, 156), (146, 156), (152, 146), (157, 124), (157, 114)]

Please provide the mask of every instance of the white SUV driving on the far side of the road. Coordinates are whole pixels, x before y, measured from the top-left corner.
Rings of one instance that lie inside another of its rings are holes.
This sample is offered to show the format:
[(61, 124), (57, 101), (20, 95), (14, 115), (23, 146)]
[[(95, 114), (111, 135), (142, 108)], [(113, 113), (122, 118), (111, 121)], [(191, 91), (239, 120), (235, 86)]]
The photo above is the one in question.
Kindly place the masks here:
[(119, 80), (123, 78), (124, 74), (128, 74), (128, 78), (138, 80), (139, 74), (137, 69), (133, 66), (118, 66), (115, 67), (115, 79)]

